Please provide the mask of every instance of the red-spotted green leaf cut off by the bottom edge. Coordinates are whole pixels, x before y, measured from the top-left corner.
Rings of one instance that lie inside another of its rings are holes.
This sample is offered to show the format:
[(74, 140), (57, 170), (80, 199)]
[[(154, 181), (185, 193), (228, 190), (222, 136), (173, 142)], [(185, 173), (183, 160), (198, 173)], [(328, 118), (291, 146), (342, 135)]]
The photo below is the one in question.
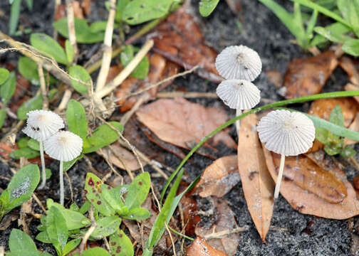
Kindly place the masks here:
[(133, 256), (133, 245), (123, 230), (110, 235), (110, 251), (112, 256)]

